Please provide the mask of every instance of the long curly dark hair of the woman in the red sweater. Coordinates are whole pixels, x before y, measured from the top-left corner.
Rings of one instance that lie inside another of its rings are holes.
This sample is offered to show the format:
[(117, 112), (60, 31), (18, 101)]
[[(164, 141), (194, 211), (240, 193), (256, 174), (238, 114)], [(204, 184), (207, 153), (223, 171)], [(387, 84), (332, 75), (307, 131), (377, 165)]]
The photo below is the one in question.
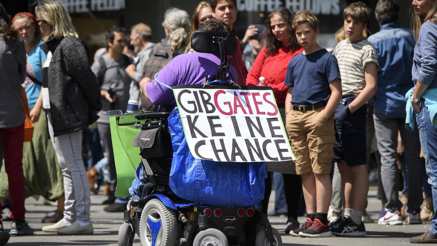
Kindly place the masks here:
[(263, 39), (267, 46), (267, 53), (268, 54), (275, 54), (277, 53), (278, 49), (281, 48), (282, 43), (281, 41), (277, 40), (272, 32), (272, 29), (270, 27), (270, 19), (275, 15), (278, 14), (281, 16), (287, 26), (288, 29), (288, 44), (287, 48), (293, 51), (296, 51), (300, 49), (299, 43), (296, 39), (295, 35), (295, 29), (293, 28), (293, 19), (295, 18), (295, 15), (291, 10), (289, 10), (286, 7), (279, 7), (275, 9), (269, 16), (267, 17), (267, 20), (265, 22), (266, 28), (264, 28), (263, 31)]

